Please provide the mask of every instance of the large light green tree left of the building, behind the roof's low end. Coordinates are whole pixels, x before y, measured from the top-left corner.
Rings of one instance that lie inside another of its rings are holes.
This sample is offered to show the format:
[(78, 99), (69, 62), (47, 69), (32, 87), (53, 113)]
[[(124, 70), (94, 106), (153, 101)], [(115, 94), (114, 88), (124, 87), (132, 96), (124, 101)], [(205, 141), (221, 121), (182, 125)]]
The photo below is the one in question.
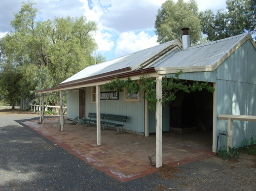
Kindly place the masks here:
[[(30, 1), (22, 3), (19, 13), (14, 14), (11, 21), (14, 31), (7, 33), (0, 41), (4, 40), (4, 46), (1, 43), (0, 47), (13, 69), (20, 68), (23, 78), (16, 93), (23, 98), (34, 94), (35, 89), (57, 86), (94, 64), (93, 51), (97, 48), (95, 22), (88, 21), (84, 16), (37, 21), (35, 4)], [(105, 57), (97, 56), (96, 60), (105, 60)], [(46, 99), (55, 103), (57, 97)]]

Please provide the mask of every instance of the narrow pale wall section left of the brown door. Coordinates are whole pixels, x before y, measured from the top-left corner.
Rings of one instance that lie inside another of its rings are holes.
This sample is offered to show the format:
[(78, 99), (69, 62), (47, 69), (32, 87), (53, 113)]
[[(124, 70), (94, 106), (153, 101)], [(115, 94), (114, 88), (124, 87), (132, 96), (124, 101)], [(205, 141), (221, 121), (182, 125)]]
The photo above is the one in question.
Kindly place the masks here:
[(79, 91), (67, 90), (67, 117), (79, 116)]

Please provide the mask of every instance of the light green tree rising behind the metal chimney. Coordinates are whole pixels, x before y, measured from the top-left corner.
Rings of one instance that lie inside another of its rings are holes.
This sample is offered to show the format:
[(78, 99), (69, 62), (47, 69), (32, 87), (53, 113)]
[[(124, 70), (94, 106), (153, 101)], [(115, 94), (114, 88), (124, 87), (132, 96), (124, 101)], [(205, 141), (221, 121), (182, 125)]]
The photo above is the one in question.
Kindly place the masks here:
[(182, 42), (182, 28), (188, 27), (192, 45), (202, 40), (200, 20), (198, 19), (198, 7), (196, 0), (184, 2), (178, 0), (165, 1), (158, 10), (155, 21), (155, 33), (157, 42), (165, 43), (178, 39)]

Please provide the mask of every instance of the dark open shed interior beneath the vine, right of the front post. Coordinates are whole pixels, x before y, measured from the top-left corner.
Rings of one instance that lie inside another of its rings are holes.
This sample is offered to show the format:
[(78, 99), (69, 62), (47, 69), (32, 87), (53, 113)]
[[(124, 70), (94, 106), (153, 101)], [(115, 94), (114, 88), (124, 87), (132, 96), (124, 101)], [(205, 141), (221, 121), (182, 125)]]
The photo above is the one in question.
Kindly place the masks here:
[(210, 131), (213, 128), (213, 94), (205, 89), (185, 93), (179, 91), (170, 105), (171, 128), (195, 128)]

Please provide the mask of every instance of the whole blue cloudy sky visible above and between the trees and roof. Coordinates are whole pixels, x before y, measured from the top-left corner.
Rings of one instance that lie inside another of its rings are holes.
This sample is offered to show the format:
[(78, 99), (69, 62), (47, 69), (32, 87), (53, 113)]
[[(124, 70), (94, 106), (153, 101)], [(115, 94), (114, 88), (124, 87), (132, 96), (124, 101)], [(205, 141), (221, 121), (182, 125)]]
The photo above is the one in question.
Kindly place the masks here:
[[(12, 30), (10, 21), (25, 0), (0, 0), (0, 37)], [(41, 20), (54, 17), (79, 17), (95, 21), (95, 36), (107, 60), (157, 45), (154, 22), (165, 0), (34, 0)], [(175, 0), (177, 1), (177, 0)], [(187, 0), (184, 0), (187, 1)], [(200, 11), (225, 9), (225, 0), (197, 0)], [(38, 18), (38, 19), (39, 19)]]

